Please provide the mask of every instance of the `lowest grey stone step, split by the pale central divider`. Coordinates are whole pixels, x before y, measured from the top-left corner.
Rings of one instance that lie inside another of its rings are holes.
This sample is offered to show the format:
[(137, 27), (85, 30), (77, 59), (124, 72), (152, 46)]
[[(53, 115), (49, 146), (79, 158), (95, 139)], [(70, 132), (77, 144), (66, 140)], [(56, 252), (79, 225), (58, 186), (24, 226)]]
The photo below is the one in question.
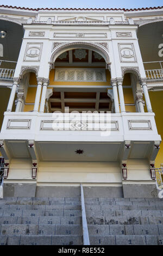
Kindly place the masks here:
[[(91, 235), (91, 245), (163, 245), (156, 235)], [(0, 245), (83, 245), (79, 235), (0, 235)]]

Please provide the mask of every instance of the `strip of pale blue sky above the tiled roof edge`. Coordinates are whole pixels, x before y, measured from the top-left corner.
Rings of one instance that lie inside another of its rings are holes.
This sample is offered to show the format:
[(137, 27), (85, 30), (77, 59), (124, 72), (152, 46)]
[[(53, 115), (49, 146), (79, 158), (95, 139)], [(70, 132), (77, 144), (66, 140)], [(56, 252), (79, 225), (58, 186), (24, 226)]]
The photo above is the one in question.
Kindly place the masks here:
[(163, 5), (162, 0), (1, 0), (0, 5), (12, 5), (29, 8), (142, 8)]

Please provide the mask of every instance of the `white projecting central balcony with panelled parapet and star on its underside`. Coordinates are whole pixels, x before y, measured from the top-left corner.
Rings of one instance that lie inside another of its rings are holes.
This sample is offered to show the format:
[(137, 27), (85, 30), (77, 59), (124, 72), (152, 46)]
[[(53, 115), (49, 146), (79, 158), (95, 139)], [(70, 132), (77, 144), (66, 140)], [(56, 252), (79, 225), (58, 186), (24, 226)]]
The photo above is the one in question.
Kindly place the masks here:
[(154, 113), (114, 113), (101, 125), (68, 115), (5, 112), (0, 144), (10, 159), (29, 158), (34, 145), (40, 161), (153, 160), (159, 150)]

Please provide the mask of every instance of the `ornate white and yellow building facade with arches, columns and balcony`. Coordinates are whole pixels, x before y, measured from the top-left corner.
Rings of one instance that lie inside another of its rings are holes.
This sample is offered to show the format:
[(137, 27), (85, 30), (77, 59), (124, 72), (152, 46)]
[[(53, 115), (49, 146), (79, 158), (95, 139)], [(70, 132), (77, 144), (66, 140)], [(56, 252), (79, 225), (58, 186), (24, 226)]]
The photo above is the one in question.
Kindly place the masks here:
[(0, 22), (4, 196), (158, 196), (163, 8), (1, 6)]

